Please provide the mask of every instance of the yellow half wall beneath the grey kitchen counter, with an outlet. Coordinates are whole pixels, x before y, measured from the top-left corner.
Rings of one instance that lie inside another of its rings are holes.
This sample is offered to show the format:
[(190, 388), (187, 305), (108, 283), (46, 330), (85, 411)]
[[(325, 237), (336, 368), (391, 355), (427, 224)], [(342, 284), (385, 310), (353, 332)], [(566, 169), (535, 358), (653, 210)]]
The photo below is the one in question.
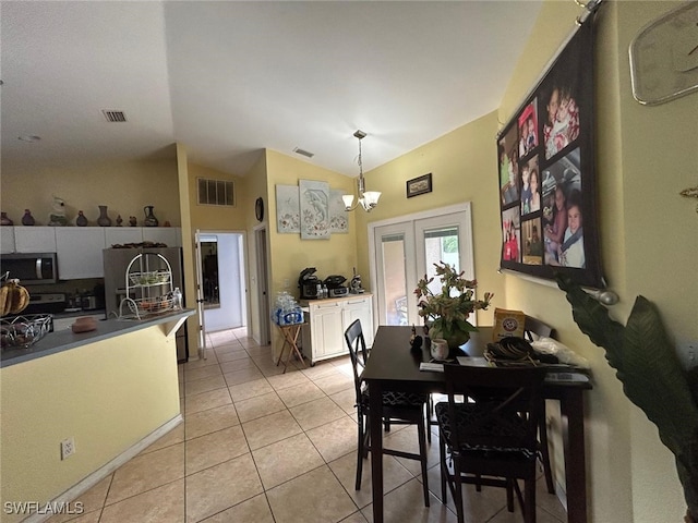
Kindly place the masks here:
[(153, 326), (2, 368), (0, 406), (2, 502), (46, 502), (179, 415), (174, 339)]

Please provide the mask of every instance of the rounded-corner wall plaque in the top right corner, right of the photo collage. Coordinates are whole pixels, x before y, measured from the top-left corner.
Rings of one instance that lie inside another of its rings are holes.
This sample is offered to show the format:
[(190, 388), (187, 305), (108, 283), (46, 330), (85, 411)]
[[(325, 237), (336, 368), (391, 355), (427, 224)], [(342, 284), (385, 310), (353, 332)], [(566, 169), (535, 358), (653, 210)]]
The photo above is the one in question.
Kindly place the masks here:
[(663, 104), (698, 90), (698, 2), (646, 25), (630, 42), (633, 96)]

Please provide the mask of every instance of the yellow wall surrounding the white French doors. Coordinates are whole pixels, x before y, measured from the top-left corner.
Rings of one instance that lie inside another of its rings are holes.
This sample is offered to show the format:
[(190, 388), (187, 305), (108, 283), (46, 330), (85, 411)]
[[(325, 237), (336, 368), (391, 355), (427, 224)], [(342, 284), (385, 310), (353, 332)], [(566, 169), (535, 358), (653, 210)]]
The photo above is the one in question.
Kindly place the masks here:
[[(374, 285), (368, 281), (369, 222), (471, 202), (478, 293), (481, 297), (485, 291), (494, 292), (493, 303), (504, 305), (504, 278), (497, 273), (501, 231), (494, 146), (496, 126), (496, 114), (488, 114), (366, 173), (366, 186), (383, 194), (378, 206), (370, 214), (354, 212), (359, 273), (364, 279), (364, 287), (373, 289)], [(366, 143), (364, 150), (368, 147)], [(407, 198), (407, 180), (428, 172), (432, 173), (432, 192)], [(478, 321), (491, 325), (492, 309), (479, 311)]]

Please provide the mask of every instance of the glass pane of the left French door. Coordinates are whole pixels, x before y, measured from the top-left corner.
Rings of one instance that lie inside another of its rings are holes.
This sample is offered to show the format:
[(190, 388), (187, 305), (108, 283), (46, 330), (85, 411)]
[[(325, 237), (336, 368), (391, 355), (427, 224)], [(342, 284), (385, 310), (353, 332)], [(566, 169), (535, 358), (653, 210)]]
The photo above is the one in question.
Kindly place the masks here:
[(383, 259), (383, 295), (385, 296), (386, 325), (408, 325), (405, 269), (405, 235), (389, 234), (381, 238)]

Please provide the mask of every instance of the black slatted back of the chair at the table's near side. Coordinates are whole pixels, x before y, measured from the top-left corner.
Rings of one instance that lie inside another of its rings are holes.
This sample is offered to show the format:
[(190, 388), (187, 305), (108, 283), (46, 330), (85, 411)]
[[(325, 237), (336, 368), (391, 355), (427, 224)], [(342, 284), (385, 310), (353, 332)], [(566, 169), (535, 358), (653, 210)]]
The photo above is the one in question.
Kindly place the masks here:
[[(444, 365), (454, 449), (517, 449), (537, 452), (541, 367), (474, 367)], [(458, 410), (457, 396), (474, 399)], [(465, 414), (464, 414), (465, 413)]]

